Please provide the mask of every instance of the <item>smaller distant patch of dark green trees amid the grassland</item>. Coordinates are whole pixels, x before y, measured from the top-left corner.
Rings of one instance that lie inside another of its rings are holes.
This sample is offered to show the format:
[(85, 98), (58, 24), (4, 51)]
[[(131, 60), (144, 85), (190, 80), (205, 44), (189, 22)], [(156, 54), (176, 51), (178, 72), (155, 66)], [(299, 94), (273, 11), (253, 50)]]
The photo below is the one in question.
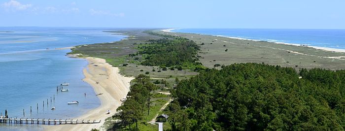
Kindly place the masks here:
[(138, 46), (138, 54), (142, 56), (144, 66), (167, 66), (175, 68), (203, 68), (197, 62), (199, 46), (192, 40), (175, 37), (149, 40), (147, 44)]

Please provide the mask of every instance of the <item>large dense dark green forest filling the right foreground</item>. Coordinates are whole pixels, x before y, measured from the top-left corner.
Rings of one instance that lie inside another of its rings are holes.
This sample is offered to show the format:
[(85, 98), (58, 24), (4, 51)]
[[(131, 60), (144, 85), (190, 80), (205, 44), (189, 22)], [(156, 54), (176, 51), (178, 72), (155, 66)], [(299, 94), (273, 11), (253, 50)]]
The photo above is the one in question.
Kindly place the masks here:
[(345, 70), (233, 64), (181, 80), (172, 91), (173, 131), (341, 131)]

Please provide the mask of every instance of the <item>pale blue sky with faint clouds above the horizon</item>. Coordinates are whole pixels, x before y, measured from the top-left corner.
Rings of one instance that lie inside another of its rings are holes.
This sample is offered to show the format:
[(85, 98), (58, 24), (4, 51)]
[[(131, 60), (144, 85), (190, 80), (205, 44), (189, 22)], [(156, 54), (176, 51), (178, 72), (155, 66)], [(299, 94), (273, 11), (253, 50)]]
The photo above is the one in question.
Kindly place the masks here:
[(345, 29), (345, 0), (0, 0), (0, 27)]

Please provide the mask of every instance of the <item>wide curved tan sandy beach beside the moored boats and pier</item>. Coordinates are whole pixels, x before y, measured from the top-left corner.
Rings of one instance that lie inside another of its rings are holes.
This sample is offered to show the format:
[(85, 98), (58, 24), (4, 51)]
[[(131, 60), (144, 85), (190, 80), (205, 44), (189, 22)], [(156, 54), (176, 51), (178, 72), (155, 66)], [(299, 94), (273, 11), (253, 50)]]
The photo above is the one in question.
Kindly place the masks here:
[[(93, 109), (86, 114), (74, 119), (79, 120), (102, 120), (100, 124), (78, 124), (78, 125), (57, 125), (45, 126), (47, 131), (90, 131), (91, 129), (101, 129), (104, 120), (115, 114), (116, 108), (121, 105), (120, 99), (127, 96), (130, 87), (130, 81), (134, 78), (125, 77), (119, 74), (118, 67), (112, 67), (105, 63), (104, 59), (86, 58), (89, 65), (84, 68), (83, 73), (85, 82), (89, 83), (96, 94), (103, 93), (98, 97), (101, 100), (101, 106)], [(99, 84), (96, 84), (99, 82)], [(106, 114), (111, 110), (110, 114)]]

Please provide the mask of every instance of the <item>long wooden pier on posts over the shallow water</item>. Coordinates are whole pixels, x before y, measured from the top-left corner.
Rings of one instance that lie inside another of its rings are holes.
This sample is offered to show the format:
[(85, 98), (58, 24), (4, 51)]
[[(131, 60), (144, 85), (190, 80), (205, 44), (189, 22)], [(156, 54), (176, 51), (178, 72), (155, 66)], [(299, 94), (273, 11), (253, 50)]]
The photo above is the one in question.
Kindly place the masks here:
[(0, 123), (8, 124), (41, 124), (41, 125), (63, 125), (63, 124), (96, 124), (100, 121), (90, 120), (62, 120), (62, 119), (23, 119), (23, 118), (0, 118)]

